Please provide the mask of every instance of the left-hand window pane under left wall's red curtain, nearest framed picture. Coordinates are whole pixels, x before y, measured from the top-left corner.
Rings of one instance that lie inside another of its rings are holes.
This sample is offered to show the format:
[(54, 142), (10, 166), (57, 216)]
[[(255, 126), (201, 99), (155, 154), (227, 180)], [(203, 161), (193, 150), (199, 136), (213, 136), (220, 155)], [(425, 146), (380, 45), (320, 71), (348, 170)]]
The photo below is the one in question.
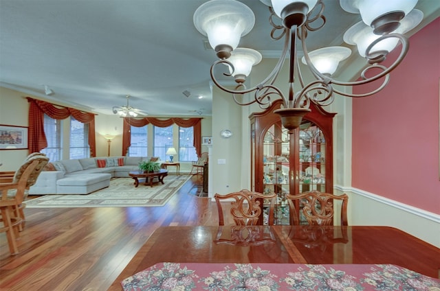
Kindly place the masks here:
[(43, 148), (41, 152), (46, 154), (50, 161), (61, 160), (62, 125), (62, 120), (53, 119), (48, 115), (44, 115), (44, 133), (47, 139), (47, 148)]

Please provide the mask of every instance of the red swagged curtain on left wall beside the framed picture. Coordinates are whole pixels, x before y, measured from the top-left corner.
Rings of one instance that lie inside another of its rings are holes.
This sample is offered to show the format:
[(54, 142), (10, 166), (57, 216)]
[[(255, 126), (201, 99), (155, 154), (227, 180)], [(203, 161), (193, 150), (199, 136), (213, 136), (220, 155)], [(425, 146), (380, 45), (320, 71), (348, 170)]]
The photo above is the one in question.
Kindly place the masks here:
[(90, 156), (96, 156), (95, 115), (74, 108), (55, 106), (52, 103), (26, 97), (29, 106), (29, 153), (39, 152), (47, 147), (44, 133), (44, 113), (53, 119), (66, 119), (72, 115), (83, 124), (89, 124)]

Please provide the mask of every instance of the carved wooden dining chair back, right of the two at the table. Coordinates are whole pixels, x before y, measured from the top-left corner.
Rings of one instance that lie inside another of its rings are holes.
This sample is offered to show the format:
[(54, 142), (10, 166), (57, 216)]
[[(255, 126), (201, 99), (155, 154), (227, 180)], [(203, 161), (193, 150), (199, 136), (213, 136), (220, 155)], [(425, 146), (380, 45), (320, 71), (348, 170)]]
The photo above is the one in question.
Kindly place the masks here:
[(349, 196), (347, 194), (333, 195), (320, 193), (319, 191), (305, 192), (298, 195), (287, 194), (289, 202), (290, 224), (299, 225), (300, 218), (307, 220), (308, 224), (333, 225), (335, 209), (333, 200), (340, 200), (340, 224), (347, 226), (347, 205)]

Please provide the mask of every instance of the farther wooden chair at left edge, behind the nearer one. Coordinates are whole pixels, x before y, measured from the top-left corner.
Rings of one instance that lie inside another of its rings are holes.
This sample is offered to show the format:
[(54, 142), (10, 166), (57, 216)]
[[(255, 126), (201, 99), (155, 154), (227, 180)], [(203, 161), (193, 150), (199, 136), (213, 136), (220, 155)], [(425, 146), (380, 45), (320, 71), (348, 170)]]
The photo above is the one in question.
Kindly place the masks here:
[[(35, 167), (33, 167), (30, 174), (25, 177), (26, 181), (23, 191), (21, 191), (21, 189), (19, 189), (18, 187), (9, 187), (8, 189), (5, 188), (7, 187), (6, 185), (8, 185), (8, 183), (19, 183), (20, 181), (22, 181), (25, 170), (27, 170), (28, 167), (34, 162), (36, 162)], [(14, 173), (12, 179), (10, 178), (9, 181), (5, 181), (6, 178), (0, 178), (0, 189), (4, 190), (2, 191), (2, 200), (4, 200), (4, 197), (16, 198), (17, 207), (14, 207), (14, 211), (16, 211), (17, 216), (20, 217), (23, 221), (25, 221), (25, 214), (23, 209), (26, 207), (23, 200), (25, 200), (25, 198), (28, 196), (29, 187), (36, 183), (36, 179), (39, 177), (41, 171), (43, 171), (43, 168), (45, 167), (45, 165), (47, 165), (48, 162), (49, 158), (47, 158), (45, 154), (32, 153), (26, 158), (23, 165), (19, 167), (19, 170)]]

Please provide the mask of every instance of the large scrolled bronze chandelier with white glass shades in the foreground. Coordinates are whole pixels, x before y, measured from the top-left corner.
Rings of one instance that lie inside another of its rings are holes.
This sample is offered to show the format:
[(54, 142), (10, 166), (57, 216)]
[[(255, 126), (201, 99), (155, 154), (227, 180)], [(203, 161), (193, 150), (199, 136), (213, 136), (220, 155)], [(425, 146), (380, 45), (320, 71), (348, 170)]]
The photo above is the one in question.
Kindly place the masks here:
[[(388, 84), (389, 73), (399, 65), (408, 51), (408, 39), (403, 34), (418, 25), (423, 13), (413, 9), (417, 0), (340, 0), (343, 10), (360, 14), (362, 21), (356, 23), (344, 34), (344, 42), (356, 45), (359, 54), (366, 59), (366, 67), (360, 74), (360, 80), (342, 82), (331, 78), (339, 62), (348, 58), (351, 49), (348, 47), (325, 47), (308, 51), (306, 40), (309, 32), (320, 30), (326, 23), (325, 4), (322, 0), (261, 0), (269, 7), (271, 38), (284, 38), (284, 47), (276, 66), (265, 80), (247, 88), (244, 84), (252, 66), (261, 61), (261, 54), (254, 49), (237, 47), (241, 36), (248, 34), (254, 26), (254, 13), (247, 5), (236, 0), (210, 0), (197, 8), (193, 16), (197, 30), (208, 36), (211, 47), (217, 53), (216, 60), (210, 69), (211, 79), (219, 89), (232, 93), (236, 104), (247, 106), (259, 104), (267, 108), (272, 96), (281, 98), (283, 106), (274, 110), (280, 115), (281, 122), (289, 133), (298, 128), (303, 117), (310, 112), (311, 102), (327, 106), (334, 100), (334, 93), (347, 97), (365, 97), (382, 90)], [(333, 4), (333, 2), (331, 2)], [(303, 47), (303, 64), (311, 70), (315, 80), (305, 84), (300, 72), (296, 53), (296, 42)], [(399, 56), (389, 67), (382, 65), (387, 54), (401, 43)], [(288, 95), (274, 86), (285, 59), (289, 57)], [(219, 84), (214, 76), (214, 67), (227, 65), (234, 77), (235, 89), (228, 89)], [(372, 75), (366, 77), (366, 75)], [(302, 89), (294, 92), (294, 77), (298, 75)], [(357, 86), (381, 80), (377, 88), (368, 93), (355, 95), (334, 88), (334, 85)], [(250, 102), (244, 102), (243, 95), (254, 93)]]

